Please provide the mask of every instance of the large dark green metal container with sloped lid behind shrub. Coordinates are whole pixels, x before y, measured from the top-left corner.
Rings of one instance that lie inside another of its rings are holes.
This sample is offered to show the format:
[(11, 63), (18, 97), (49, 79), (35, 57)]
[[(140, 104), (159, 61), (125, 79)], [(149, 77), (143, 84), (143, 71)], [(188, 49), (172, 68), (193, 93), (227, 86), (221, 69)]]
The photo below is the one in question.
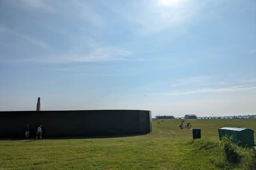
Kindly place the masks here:
[(223, 136), (232, 136), (238, 146), (254, 147), (254, 131), (246, 127), (222, 127), (218, 129), (220, 140)]

